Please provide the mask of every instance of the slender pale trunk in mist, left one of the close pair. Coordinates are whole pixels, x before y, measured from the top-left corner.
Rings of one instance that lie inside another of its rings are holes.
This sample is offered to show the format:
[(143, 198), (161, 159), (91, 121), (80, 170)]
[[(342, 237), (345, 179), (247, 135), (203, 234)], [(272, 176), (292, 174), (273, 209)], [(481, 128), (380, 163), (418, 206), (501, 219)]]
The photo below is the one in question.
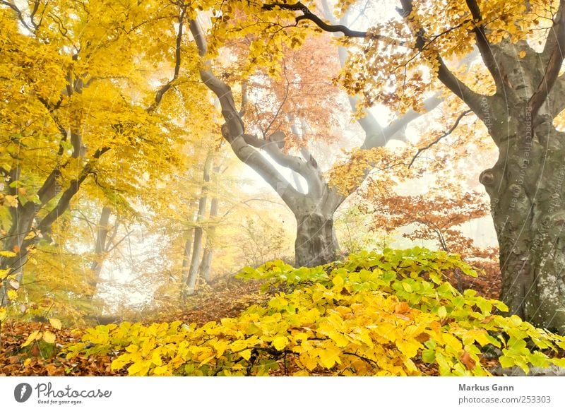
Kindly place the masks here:
[(183, 295), (191, 295), (196, 291), (196, 280), (198, 279), (198, 268), (200, 267), (200, 258), (202, 255), (202, 222), (206, 214), (206, 203), (208, 202), (208, 191), (210, 190), (210, 168), (212, 167), (212, 156), (208, 155), (204, 162), (202, 188), (200, 198), (198, 198), (198, 214), (196, 215), (196, 225), (194, 227), (194, 245), (192, 249), (192, 257), (189, 267), (189, 273), (186, 276)]

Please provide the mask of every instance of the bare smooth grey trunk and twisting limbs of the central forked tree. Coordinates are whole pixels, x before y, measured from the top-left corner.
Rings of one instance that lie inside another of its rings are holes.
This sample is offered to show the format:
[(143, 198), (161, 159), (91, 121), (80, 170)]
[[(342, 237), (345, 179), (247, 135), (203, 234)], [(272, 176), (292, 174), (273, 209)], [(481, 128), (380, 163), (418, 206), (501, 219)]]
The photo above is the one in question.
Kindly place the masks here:
[[(198, 54), (206, 56), (206, 36), (196, 20), (191, 20), (190, 30), (198, 47)], [(201, 68), (200, 75), (203, 83), (218, 97), (222, 117), (225, 119), (225, 124), (222, 124), (222, 136), (230, 143), (234, 155), (268, 182), (294, 213), (297, 219), (296, 265), (311, 267), (335, 260), (338, 242), (333, 231), (333, 214), (347, 196), (337, 193), (328, 185), (324, 173), (307, 147), (299, 150), (300, 155), (287, 152), (283, 132), (276, 131), (265, 138), (246, 133), (242, 119), (244, 109), (236, 108), (230, 86), (217, 78), (211, 70)], [(424, 107), (433, 109), (439, 102), (440, 99), (432, 97), (424, 102)], [(351, 103), (352, 107), (357, 106), (355, 100), (351, 100)], [(364, 119), (359, 121), (365, 131), (362, 149), (380, 147), (390, 138), (399, 138), (405, 126), (421, 115), (409, 110), (403, 117), (383, 128), (369, 112), (365, 114)], [(297, 129), (292, 131), (299, 134)], [(262, 153), (267, 154), (278, 165), (299, 174), (307, 187), (302, 187), (300, 181), (297, 182), (296, 188), (292, 186)], [(357, 181), (358, 185), (362, 184), (369, 171), (368, 167)]]

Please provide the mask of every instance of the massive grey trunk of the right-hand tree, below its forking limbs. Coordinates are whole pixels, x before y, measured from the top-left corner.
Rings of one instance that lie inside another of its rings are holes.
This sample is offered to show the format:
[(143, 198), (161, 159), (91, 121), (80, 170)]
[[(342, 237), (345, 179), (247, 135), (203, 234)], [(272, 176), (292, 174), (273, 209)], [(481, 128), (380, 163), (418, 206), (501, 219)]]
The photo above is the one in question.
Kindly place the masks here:
[(515, 118), (516, 137), (480, 177), (499, 240), (501, 299), (510, 314), (565, 333), (565, 133), (544, 117)]

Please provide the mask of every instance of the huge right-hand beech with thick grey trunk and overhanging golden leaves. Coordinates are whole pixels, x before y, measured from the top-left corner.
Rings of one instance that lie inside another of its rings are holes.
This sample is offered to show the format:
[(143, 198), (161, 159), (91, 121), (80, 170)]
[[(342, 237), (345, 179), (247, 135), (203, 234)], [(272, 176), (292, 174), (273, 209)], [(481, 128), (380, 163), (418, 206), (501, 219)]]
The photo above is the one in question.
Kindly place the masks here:
[[(499, 240), (501, 299), (511, 314), (565, 332), (565, 1), (399, 3), (396, 16), (367, 31), (328, 25), (301, 3), (268, 8), (295, 11), (297, 24), (309, 20), (349, 37), (352, 53), (341, 82), (364, 105), (418, 108), (427, 91), (442, 85), (482, 121), (499, 148), (480, 182)], [(473, 47), (480, 61), (473, 76), (462, 76), (449, 59)]]

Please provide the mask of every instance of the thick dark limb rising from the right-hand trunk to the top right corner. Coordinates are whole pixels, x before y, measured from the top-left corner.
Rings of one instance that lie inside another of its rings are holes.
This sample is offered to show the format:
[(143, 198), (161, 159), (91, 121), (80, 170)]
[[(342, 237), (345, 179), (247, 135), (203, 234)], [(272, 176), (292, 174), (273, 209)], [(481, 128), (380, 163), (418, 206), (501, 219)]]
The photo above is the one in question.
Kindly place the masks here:
[(565, 0), (559, 1), (559, 9), (555, 15), (554, 25), (545, 44), (542, 57), (549, 58), (542, 80), (528, 102), (528, 112), (532, 117), (537, 115), (555, 85), (565, 59)]

